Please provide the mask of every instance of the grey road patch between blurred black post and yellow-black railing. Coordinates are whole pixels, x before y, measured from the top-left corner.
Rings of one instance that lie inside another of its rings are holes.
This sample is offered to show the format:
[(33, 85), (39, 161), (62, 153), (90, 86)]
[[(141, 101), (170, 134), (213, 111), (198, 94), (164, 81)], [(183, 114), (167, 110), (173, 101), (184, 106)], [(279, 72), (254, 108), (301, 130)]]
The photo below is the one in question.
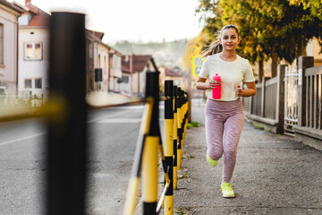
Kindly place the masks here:
[(143, 106), (91, 116), (89, 214), (122, 214)]

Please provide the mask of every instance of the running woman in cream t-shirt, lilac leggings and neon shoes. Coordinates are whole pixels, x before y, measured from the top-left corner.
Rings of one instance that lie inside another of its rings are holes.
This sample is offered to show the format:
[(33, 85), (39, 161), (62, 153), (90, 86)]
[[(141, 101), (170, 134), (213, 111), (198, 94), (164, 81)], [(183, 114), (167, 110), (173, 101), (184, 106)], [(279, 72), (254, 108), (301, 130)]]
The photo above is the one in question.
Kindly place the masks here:
[[(235, 196), (230, 181), (244, 122), (240, 98), (256, 94), (255, 78), (249, 61), (236, 55), (239, 42), (238, 29), (234, 25), (223, 27), (217, 40), (203, 53), (206, 60), (196, 82), (196, 88), (206, 90), (208, 95), (205, 107), (208, 163), (216, 167), (218, 159), (223, 154), (225, 156), (221, 185), (225, 198)], [(212, 89), (219, 85), (218, 81), (212, 80), (216, 73), (221, 76), (221, 99), (212, 98)], [(247, 90), (242, 90), (242, 81), (246, 83)]]

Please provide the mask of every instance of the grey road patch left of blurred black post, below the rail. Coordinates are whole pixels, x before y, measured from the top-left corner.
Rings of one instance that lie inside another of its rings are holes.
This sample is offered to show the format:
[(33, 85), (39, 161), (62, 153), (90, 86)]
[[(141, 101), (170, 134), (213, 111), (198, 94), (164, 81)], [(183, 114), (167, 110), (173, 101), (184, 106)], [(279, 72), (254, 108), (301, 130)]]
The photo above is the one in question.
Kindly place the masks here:
[(0, 214), (40, 213), (44, 133), (37, 120), (0, 126)]

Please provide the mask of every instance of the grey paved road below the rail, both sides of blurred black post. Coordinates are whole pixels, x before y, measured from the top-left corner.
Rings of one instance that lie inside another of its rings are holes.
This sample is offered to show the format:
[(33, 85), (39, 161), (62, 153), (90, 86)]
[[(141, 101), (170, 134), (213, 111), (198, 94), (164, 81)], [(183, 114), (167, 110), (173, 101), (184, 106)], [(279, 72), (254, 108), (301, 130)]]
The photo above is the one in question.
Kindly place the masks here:
[[(143, 105), (89, 113), (88, 214), (122, 214), (142, 113)], [(0, 214), (43, 213), (46, 133), (39, 120), (0, 125)]]

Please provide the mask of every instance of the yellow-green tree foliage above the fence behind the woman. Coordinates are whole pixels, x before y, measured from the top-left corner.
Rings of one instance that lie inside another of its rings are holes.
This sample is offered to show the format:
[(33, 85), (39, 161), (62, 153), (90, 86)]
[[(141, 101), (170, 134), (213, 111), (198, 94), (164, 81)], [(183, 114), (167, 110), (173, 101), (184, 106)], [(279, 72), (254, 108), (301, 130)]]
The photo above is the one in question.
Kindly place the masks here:
[[(277, 57), (289, 63), (303, 54), (308, 40), (322, 37), (320, 0), (201, 0), (205, 31), (233, 23), (240, 30), (240, 51), (254, 63)], [(216, 39), (213, 34), (210, 40)], [(273, 67), (272, 67), (273, 69)], [(274, 76), (274, 75), (273, 75)]]

